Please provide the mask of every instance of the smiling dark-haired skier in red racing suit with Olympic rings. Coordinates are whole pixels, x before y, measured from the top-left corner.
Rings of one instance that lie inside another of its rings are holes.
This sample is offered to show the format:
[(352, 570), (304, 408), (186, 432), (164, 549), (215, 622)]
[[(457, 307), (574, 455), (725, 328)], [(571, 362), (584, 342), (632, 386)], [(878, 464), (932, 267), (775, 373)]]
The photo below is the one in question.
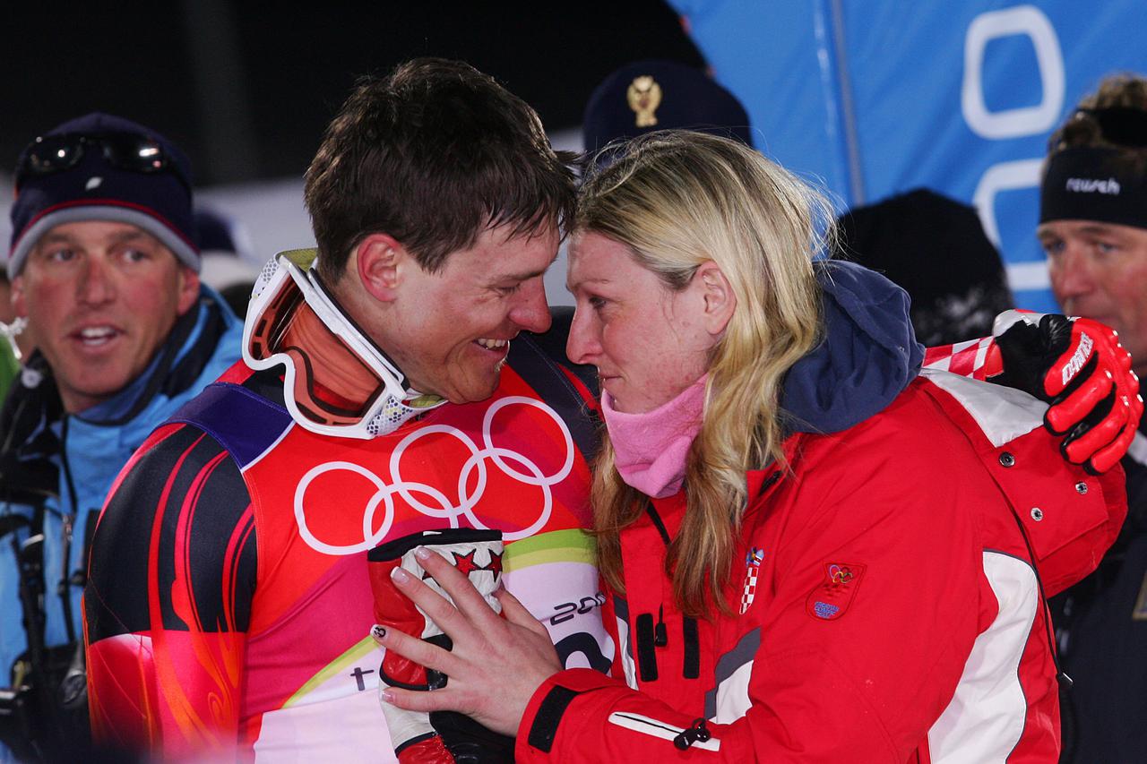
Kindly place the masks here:
[(569, 665), (612, 660), (580, 530), (593, 397), (545, 337), (574, 177), (537, 115), (466, 64), (408, 62), (351, 94), (306, 195), (320, 254), (268, 264), (245, 362), (148, 438), (101, 514), (101, 743), (393, 762), (367, 553), (423, 529), (500, 530), (505, 585)]

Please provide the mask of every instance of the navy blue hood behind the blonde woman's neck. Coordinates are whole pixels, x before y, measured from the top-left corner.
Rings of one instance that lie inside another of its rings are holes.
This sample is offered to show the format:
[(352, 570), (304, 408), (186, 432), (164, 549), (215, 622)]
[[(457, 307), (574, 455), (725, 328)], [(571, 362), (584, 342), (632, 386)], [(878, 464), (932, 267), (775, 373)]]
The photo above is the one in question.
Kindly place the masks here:
[(892, 403), (920, 372), (924, 349), (908, 295), (856, 263), (821, 260), (825, 337), (789, 369), (781, 407), (790, 432), (840, 432)]

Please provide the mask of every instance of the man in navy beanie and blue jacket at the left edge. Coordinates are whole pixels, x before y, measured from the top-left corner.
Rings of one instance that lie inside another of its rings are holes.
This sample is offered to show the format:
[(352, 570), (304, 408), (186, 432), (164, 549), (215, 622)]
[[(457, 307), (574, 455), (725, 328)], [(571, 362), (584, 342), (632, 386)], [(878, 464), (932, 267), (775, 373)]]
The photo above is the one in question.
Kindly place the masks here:
[(0, 412), (0, 735), (55, 758), (85, 746), (80, 599), (104, 497), (239, 358), (242, 326), (200, 283), (190, 164), (142, 125), (91, 114), (37, 138), (11, 227), (13, 305), (37, 351)]

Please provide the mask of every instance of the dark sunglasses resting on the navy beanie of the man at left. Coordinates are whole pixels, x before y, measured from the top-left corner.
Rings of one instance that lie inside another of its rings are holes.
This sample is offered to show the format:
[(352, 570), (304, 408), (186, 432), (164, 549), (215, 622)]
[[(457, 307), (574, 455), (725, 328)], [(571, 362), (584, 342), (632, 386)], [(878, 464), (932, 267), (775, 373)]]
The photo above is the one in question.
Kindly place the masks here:
[(16, 187), (19, 188), (32, 177), (71, 170), (91, 150), (102, 151), (108, 164), (118, 170), (145, 174), (170, 172), (185, 188), (189, 190), (192, 187), (190, 180), (184, 177), (179, 165), (167, 156), (162, 143), (133, 133), (41, 135), (29, 143), (19, 155), (16, 164)]

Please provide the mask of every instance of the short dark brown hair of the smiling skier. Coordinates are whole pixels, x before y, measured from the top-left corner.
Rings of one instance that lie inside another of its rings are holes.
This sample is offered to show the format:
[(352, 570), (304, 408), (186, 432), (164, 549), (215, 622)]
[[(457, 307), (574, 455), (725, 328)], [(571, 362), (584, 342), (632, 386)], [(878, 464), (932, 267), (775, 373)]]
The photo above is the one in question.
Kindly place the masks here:
[(522, 99), (469, 64), (416, 59), (359, 80), (306, 171), (305, 200), (333, 284), (372, 233), (435, 272), (489, 227), (562, 225), (575, 186)]

